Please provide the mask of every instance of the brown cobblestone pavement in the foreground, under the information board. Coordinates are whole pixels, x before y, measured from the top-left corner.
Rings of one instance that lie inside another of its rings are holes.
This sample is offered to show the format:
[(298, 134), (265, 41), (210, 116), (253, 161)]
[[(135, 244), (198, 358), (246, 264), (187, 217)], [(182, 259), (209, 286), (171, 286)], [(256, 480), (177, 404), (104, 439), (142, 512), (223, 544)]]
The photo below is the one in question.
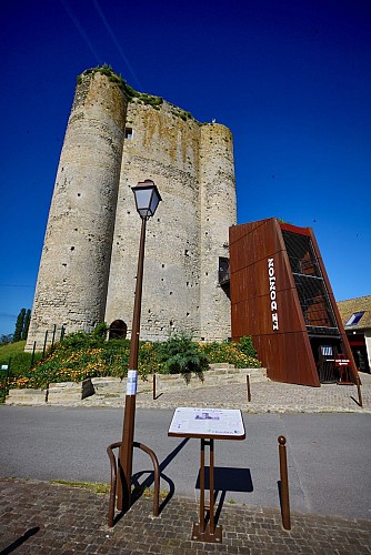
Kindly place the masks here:
[(274, 509), (223, 506), (222, 544), (191, 539), (194, 502), (172, 497), (160, 517), (141, 497), (113, 528), (108, 495), (34, 480), (0, 478), (1, 554), (370, 554), (371, 521), (291, 515), (291, 531)]

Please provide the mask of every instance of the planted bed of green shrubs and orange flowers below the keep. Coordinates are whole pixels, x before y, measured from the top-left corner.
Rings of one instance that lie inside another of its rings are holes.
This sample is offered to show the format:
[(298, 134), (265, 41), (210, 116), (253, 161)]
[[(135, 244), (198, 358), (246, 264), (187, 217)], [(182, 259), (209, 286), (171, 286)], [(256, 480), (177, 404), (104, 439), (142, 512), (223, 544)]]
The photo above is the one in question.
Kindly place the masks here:
[[(11, 350), (10, 387), (48, 387), (54, 382), (81, 382), (87, 377), (124, 377), (128, 373), (130, 341), (106, 341), (107, 326), (99, 324), (92, 333), (74, 332), (49, 349), (41, 361), (30, 369), (31, 353), (24, 353), (24, 342), (0, 347), (0, 362), (8, 364)], [(16, 350), (17, 347), (17, 350)], [(202, 343), (186, 333), (173, 334), (164, 342), (142, 341), (139, 344), (138, 371), (142, 379), (150, 373), (201, 374), (211, 363), (228, 362), (235, 367), (259, 367), (250, 337), (240, 343)]]

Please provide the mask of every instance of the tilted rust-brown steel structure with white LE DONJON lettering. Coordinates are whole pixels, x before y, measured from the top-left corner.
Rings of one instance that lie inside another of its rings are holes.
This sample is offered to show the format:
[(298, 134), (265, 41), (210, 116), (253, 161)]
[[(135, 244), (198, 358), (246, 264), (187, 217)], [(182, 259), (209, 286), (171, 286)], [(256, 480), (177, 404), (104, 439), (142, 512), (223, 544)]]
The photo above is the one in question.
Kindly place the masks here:
[(358, 376), (310, 228), (275, 218), (230, 229), (232, 339), (251, 335), (271, 380), (320, 386)]

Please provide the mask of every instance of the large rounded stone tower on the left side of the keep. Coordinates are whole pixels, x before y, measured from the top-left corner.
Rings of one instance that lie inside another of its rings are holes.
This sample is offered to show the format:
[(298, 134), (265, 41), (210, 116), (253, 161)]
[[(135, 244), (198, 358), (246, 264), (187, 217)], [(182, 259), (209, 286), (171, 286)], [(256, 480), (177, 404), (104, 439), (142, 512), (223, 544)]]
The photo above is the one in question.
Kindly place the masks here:
[[(90, 330), (104, 316), (127, 113), (121, 88), (80, 77), (39, 268), (27, 350), (46, 332)], [(50, 337), (50, 335), (49, 335)], [(58, 337), (57, 337), (58, 339)]]

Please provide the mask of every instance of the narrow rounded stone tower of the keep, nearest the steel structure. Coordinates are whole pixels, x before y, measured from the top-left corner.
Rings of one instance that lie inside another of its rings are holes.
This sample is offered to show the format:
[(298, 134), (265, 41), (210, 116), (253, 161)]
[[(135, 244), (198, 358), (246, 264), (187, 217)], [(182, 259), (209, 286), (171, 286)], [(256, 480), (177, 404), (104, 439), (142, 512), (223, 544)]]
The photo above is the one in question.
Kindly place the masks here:
[(219, 285), (219, 258), (229, 258), (229, 228), (235, 224), (232, 134), (224, 125), (202, 125), (201, 181), (201, 337), (227, 339), (230, 299)]

